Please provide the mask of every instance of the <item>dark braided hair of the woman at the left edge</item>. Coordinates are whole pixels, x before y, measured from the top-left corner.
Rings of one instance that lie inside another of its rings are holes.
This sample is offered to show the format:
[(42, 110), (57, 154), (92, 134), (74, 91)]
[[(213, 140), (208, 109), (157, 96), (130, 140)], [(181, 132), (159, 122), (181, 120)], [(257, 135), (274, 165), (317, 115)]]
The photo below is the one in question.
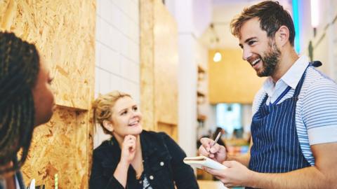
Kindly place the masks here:
[[(20, 169), (27, 158), (34, 130), (32, 88), (39, 73), (35, 45), (0, 31), (0, 174)], [(22, 151), (16, 161), (18, 151)]]

